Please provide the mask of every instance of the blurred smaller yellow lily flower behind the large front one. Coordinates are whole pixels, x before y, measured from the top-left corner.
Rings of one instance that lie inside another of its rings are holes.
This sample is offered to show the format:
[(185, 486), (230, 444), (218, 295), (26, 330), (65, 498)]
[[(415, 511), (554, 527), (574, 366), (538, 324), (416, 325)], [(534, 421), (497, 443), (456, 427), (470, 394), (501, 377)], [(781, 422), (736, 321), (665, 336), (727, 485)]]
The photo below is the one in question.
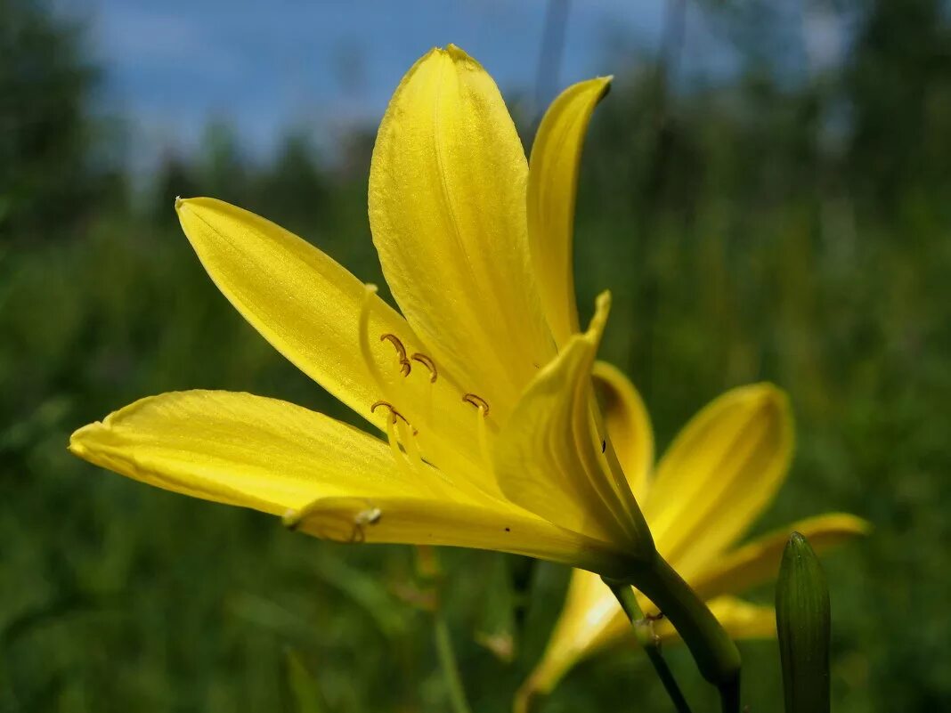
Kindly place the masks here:
[[(734, 595), (774, 578), (789, 532), (824, 551), (868, 531), (854, 515), (826, 513), (795, 522), (739, 548), (736, 541), (767, 508), (786, 479), (793, 424), (786, 395), (770, 384), (728, 391), (696, 414), (653, 467), (653, 434), (644, 403), (626, 376), (608, 364), (594, 369), (608, 432), (657, 550), (687, 580), (731, 638), (770, 638), (772, 607)], [(657, 607), (640, 592), (647, 617)], [(659, 640), (677, 636), (666, 619), (650, 622)], [(574, 570), (552, 638), (515, 700), (525, 711), (581, 659), (633, 642), (631, 622), (601, 578)]]

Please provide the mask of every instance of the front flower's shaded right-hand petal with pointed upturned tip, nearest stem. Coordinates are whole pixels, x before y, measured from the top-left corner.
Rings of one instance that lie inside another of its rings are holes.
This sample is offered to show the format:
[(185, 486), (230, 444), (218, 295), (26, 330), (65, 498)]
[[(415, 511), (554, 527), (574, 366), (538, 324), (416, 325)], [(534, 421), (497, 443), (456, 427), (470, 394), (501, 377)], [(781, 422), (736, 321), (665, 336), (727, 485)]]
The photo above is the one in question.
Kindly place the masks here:
[(526, 510), (636, 557), (653, 553), (650, 532), (592, 417), (591, 370), (609, 307), (606, 293), (588, 332), (569, 340), (525, 390), (495, 443), (495, 476)]

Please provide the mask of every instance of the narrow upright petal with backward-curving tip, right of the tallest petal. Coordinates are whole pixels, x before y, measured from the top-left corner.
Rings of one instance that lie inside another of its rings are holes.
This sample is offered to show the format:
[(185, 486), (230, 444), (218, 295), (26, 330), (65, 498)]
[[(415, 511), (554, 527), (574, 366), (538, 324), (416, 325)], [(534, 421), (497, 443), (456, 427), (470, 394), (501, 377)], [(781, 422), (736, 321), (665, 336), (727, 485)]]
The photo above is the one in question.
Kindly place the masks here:
[(559, 345), (576, 334), (572, 243), (574, 198), (588, 122), (611, 77), (563, 91), (545, 112), (529, 164), (528, 226), (542, 306)]

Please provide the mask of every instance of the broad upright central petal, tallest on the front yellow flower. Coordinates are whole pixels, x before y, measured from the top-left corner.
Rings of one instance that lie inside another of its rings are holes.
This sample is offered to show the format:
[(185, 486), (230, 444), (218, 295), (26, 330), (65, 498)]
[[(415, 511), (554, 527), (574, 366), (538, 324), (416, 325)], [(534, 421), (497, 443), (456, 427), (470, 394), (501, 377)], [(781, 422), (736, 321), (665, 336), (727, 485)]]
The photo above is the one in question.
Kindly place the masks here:
[(527, 176), (512, 119), (475, 60), (450, 46), (409, 70), (373, 152), (373, 240), (432, 356), (503, 420), (554, 356), (529, 258)]

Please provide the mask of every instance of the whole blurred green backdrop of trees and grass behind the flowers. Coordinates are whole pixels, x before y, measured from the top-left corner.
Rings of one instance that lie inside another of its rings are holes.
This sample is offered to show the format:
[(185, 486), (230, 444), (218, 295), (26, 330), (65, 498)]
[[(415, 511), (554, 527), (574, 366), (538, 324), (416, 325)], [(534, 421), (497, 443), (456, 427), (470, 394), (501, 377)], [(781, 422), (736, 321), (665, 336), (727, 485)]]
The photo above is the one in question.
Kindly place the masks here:
[[(827, 4), (847, 18), (847, 52), (805, 78), (785, 70), (769, 4), (701, 5), (739, 49), (738, 71), (678, 81), (677, 0), (656, 51), (616, 53), (584, 158), (582, 313), (611, 288), (604, 356), (642, 390), (661, 447), (731, 386), (790, 392), (795, 465), (755, 530), (830, 510), (875, 527), (825, 560), (834, 709), (951, 709), (948, 4)], [(412, 549), (320, 542), (65, 449), (78, 426), (168, 390), (354, 418), (219, 295), (172, 199), (237, 202), (378, 280), (374, 127), (353, 128), (332, 158), (295, 131), (252, 158), (216, 123), (143, 181), (125, 167), (135, 149), (121, 117), (94, 110), (102, 67), (82, 25), (41, 2), (0, 9), (0, 711), (446, 710)], [(537, 13), (553, 52), (544, 91), (566, 28), (552, 7)], [(537, 112), (507, 98), (530, 145)], [(518, 563), (439, 558), (473, 708), (508, 710), (569, 572), (535, 568), (505, 663), (479, 641), (511, 630), (506, 568)], [(696, 709), (711, 710), (685, 652), (666, 650)], [(775, 644), (742, 651), (750, 710), (777, 710)], [(642, 658), (629, 648), (580, 665), (544, 710), (669, 710)]]

